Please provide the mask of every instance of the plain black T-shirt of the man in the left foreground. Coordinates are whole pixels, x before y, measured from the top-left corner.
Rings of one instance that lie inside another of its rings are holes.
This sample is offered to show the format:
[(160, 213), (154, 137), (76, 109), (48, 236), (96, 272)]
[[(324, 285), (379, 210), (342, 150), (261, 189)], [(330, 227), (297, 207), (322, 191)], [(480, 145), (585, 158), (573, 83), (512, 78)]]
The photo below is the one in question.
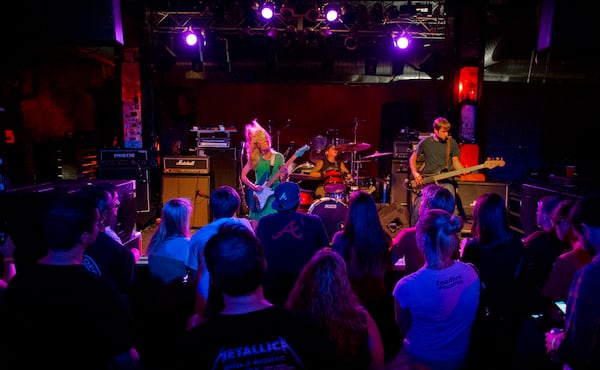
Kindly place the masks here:
[(3, 369), (106, 369), (136, 338), (115, 285), (81, 265), (20, 269), (0, 319)]

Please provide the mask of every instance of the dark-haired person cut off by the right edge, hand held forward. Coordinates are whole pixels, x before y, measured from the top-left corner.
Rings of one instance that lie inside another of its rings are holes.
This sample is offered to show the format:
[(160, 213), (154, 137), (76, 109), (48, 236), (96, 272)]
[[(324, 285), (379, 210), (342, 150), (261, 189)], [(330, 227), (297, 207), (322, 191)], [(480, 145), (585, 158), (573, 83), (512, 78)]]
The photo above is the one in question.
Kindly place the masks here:
[(556, 351), (565, 369), (600, 368), (600, 194), (578, 200), (571, 225), (592, 261), (575, 273), (567, 299), (565, 330), (546, 333), (546, 348)]

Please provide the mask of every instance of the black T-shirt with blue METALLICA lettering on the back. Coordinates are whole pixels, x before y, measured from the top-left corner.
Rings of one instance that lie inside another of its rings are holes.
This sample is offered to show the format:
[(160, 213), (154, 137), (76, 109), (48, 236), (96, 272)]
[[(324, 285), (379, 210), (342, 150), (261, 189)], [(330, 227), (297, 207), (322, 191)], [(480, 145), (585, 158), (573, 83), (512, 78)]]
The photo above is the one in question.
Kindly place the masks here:
[(181, 370), (338, 368), (325, 333), (278, 306), (216, 316), (186, 332), (177, 347)]

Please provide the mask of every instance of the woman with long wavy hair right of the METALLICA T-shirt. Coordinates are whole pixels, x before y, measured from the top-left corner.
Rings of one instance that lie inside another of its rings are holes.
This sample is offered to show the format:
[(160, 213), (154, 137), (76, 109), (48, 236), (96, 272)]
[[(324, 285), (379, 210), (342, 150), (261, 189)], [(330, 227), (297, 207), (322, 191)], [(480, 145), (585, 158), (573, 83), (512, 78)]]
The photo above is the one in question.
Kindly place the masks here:
[(308, 261), (286, 307), (317, 322), (337, 346), (344, 369), (383, 368), (383, 344), (377, 324), (360, 305), (348, 280), (346, 263), (330, 248)]

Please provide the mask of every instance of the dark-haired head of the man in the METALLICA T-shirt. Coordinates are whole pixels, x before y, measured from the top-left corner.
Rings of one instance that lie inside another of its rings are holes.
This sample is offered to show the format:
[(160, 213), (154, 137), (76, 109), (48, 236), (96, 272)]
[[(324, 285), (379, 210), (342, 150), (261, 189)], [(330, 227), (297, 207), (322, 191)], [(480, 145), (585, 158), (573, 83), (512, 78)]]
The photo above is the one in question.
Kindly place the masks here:
[(243, 225), (221, 225), (206, 242), (204, 258), (213, 284), (228, 296), (247, 295), (261, 286), (266, 270), (263, 246)]

